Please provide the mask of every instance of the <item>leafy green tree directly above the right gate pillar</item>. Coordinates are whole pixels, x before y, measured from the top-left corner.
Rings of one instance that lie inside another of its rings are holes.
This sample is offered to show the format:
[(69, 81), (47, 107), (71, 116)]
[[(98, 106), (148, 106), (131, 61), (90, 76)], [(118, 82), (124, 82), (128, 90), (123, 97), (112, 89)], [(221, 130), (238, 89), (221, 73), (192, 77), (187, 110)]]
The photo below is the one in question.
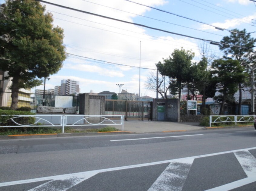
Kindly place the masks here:
[(175, 49), (169, 58), (164, 59), (162, 63), (158, 62), (156, 64), (160, 74), (173, 79), (170, 83), (170, 89), (173, 93), (178, 92), (179, 99), (181, 98), (181, 90), (184, 84), (190, 81), (191, 60), (194, 55), (190, 50)]

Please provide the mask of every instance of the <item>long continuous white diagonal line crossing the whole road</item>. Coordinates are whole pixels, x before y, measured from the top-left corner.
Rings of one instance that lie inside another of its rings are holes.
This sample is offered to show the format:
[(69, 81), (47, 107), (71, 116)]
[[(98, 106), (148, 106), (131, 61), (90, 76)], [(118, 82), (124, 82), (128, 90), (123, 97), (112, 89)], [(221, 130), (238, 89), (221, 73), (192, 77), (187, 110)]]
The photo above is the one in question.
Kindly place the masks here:
[(88, 177), (88, 176), (91, 176), (91, 174), (98, 174), (101, 172), (110, 172), (110, 171), (145, 167), (145, 166), (171, 163), (171, 162), (186, 163), (186, 161), (194, 160), (195, 158), (202, 158), (202, 157), (208, 157), (208, 156), (214, 156), (214, 155), (222, 155), (222, 154), (228, 154), (228, 153), (239, 152), (239, 151), (248, 151), (248, 150), (252, 150), (252, 149), (256, 149), (256, 147), (251, 147), (251, 148), (247, 148), (247, 149), (238, 149), (238, 150), (232, 150), (232, 151), (217, 152), (217, 153), (198, 155), (198, 156), (192, 156), (192, 157), (186, 157), (186, 158), (176, 158), (176, 159), (171, 159), (171, 160), (166, 160), (166, 161), (157, 161), (157, 162), (144, 163), (144, 164), (135, 164), (135, 165), (130, 165), (130, 166), (106, 168), (106, 169), (100, 169), (100, 170), (94, 170), (94, 171), (85, 171), (85, 172), (78, 172), (78, 173), (71, 173), (71, 174), (61, 174), (61, 175), (56, 175), (56, 176), (33, 178), (33, 179), (27, 179), (27, 180), (17, 180), (17, 181), (11, 181), (11, 182), (2, 182), (2, 183), (0, 183), (0, 187), (17, 185), (17, 184), (25, 184), (25, 183), (33, 183), (33, 182), (39, 182), (39, 181), (45, 181), (45, 180), (63, 180), (63, 179), (68, 179), (68, 178), (71, 178), (74, 176)]

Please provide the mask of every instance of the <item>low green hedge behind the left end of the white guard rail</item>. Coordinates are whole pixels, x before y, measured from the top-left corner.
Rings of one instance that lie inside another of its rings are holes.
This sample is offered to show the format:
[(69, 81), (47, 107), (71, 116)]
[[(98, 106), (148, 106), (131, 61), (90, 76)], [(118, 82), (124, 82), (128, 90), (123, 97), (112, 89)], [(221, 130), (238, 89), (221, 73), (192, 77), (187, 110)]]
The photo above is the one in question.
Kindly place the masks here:
[[(5, 116), (3, 116), (5, 115)], [(0, 126), (14, 126), (17, 125), (10, 119), (14, 117), (13, 115), (35, 115), (30, 111), (15, 111), (15, 110), (1, 110), (0, 109)], [(29, 125), (34, 124), (34, 117), (18, 117), (15, 118), (14, 121), (18, 124)]]

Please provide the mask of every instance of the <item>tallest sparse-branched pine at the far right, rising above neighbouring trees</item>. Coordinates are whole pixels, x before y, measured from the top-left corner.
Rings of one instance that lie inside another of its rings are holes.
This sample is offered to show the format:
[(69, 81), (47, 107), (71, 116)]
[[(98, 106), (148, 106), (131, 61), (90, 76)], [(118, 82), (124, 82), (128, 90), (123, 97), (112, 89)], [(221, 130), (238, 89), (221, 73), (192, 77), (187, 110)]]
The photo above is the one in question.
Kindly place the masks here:
[[(254, 112), (254, 76), (255, 76), (255, 67), (252, 67), (252, 62), (248, 62), (247, 57), (252, 55), (252, 47), (256, 39), (251, 37), (250, 33), (247, 33), (246, 30), (233, 29), (230, 36), (224, 36), (221, 40), (222, 44), (219, 45), (219, 48), (224, 52), (224, 58), (236, 59), (246, 68), (247, 72), (250, 74), (251, 82), (251, 110)], [(255, 65), (255, 63), (254, 63)], [(242, 104), (242, 83), (238, 83), (239, 87), (239, 101), (238, 101), (238, 115), (241, 114), (241, 104)]]

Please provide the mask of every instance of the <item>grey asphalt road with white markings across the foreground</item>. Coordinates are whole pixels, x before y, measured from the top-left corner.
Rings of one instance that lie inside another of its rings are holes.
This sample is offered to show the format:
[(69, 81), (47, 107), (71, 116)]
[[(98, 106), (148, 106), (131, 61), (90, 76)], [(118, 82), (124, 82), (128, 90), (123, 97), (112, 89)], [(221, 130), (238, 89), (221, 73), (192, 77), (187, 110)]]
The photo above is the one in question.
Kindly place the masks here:
[(0, 140), (0, 190), (255, 190), (256, 131)]

